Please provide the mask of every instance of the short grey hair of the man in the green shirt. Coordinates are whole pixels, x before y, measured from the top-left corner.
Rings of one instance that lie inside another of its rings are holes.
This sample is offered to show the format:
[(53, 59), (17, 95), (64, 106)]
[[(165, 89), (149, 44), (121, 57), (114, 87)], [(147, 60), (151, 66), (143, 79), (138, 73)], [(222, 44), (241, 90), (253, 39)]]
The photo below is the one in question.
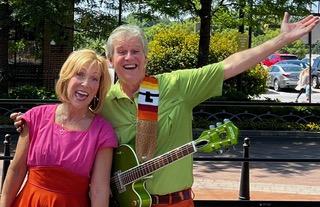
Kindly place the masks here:
[(148, 53), (148, 41), (146, 39), (146, 36), (143, 32), (143, 30), (136, 26), (136, 25), (130, 25), (130, 24), (125, 24), (117, 27), (114, 29), (105, 45), (105, 50), (106, 50), (106, 56), (110, 60), (113, 56), (114, 53), (114, 41), (119, 40), (120, 38), (132, 38), (132, 37), (137, 37), (143, 46), (143, 52), (144, 55), (147, 56)]

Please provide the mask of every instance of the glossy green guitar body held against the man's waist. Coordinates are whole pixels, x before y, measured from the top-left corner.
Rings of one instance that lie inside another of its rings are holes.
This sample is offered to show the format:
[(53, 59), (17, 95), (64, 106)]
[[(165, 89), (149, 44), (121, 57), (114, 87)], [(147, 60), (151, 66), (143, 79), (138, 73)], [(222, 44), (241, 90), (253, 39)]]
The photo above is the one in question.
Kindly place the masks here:
[[(112, 172), (124, 172), (139, 165), (134, 150), (129, 145), (119, 146), (113, 154)], [(114, 176), (114, 175), (112, 175)], [(110, 206), (119, 207), (150, 207), (151, 196), (145, 188), (145, 181), (139, 180), (125, 186), (124, 192), (111, 185), (112, 198)]]

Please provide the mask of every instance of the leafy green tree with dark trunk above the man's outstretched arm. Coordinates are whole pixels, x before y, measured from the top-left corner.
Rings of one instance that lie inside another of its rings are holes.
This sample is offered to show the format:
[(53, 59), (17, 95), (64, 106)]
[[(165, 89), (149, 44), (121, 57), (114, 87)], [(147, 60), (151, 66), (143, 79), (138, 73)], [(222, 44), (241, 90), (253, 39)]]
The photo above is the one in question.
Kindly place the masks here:
[[(140, 1), (141, 2), (141, 1)], [(212, 33), (211, 17), (216, 19), (216, 12), (224, 10), (225, 14), (232, 15), (238, 19), (238, 11), (240, 8), (240, 0), (144, 0), (143, 4), (149, 6), (149, 14), (168, 15), (179, 19), (181, 17), (191, 16), (200, 20), (200, 39), (199, 39), (199, 55), (198, 66), (207, 64), (208, 48), (210, 42), (210, 34)], [(243, 1), (241, 1), (243, 2)], [(244, 18), (237, 22), (237, 26), (244, 23), (252, 27), (261, 27), (264, 24), (271, 26), (279, 25), (284, 11), (291, 14), (305, 15), (312, 0), (284, 0), (284, 1), (255, 1), (254, 5), (245, 4), (242, 6)], [(251, 15), (249, 15), (251, 14)], [(222, 19), (224, 21), (225, 19)]]

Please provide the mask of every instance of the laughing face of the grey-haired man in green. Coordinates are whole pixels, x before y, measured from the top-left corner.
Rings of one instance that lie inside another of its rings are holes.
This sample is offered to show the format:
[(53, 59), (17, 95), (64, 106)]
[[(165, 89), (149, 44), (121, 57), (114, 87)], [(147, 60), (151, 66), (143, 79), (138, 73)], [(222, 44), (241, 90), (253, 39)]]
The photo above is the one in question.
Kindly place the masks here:
[(138, 37), (121, 37), (114, 41), (111, 64), (120, 82), (127, 85), (140, 84), (145, 76), (146, 56)]

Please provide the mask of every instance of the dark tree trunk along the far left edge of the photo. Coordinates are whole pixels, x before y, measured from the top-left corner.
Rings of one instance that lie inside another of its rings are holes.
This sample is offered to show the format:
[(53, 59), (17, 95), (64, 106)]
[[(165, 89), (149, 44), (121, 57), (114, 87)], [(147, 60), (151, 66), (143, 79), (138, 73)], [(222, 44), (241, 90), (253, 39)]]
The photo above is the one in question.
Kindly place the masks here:
[(9, 5), (0, 3), (0, 94), (8, 92)]

